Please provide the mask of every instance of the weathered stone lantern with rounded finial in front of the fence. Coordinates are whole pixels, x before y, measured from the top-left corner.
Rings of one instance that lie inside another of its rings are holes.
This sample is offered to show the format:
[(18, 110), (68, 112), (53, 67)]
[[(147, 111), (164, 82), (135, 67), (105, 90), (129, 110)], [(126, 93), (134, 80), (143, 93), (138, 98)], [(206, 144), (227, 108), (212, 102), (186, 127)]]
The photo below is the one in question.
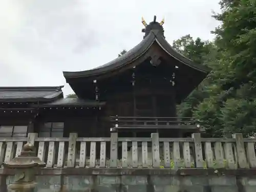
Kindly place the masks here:
[(18, 157), (3, 165), (5, 168), (15, 169), (14, 183), (8, 185), (8, 189), (15, 192), (30, 192), (36, 186), (36, 168), (45, 167), (46, 164), (36, 156), (33, 144), (27, 143)]

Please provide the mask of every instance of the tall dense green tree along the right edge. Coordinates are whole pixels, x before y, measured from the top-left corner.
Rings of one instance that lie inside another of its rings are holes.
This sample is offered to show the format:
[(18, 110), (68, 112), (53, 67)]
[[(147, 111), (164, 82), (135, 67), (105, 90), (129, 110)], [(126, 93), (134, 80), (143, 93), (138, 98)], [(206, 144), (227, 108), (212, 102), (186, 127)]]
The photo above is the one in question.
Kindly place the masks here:
[[(222, 51), (220, 68), (207, 87), (209, 96), (194, 111), (196, 118), (213, 135), (243, 133), (256, 129), (256, 2), (220, 2), (222, 23), (214, 33)], [(216, 134), (218, 133), (218, 134)]]

